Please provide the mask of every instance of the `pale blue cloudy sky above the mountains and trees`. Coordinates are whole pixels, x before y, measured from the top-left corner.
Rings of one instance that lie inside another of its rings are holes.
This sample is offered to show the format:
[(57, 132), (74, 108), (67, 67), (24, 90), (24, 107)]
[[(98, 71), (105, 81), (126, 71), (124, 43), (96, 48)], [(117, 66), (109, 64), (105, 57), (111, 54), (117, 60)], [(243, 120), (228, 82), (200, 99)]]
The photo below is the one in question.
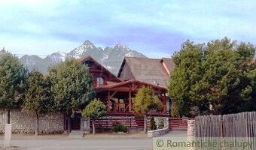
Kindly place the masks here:
[(251, 0), (0, 0), (0, 47), (44, 57), (90, 40), (162, 58), (187, 39), (256, 45), (255, 7)]

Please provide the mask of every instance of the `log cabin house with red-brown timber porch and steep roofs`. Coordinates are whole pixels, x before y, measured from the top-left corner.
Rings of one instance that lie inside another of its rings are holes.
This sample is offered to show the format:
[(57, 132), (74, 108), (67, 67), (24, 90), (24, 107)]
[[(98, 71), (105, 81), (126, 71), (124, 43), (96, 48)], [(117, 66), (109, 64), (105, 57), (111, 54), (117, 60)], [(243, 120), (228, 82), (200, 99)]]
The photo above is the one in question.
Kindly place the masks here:
[[(167, 86), (169, 72), (174, 68), (170, 58), (125, 57), (117, 76), (90, 55), (78, 58), (78, 61), (86, 65), (92, 74), (96, 98), (106, 105), (108, 115), (135, 115), (132, 98), (142, 86), (150, 86), (163, 102), (163, 112), (154, 112), (151, 115), (169, 115)], [(72, 130), (80, 130), (80, 122), (79, 117), (72, 118)]]

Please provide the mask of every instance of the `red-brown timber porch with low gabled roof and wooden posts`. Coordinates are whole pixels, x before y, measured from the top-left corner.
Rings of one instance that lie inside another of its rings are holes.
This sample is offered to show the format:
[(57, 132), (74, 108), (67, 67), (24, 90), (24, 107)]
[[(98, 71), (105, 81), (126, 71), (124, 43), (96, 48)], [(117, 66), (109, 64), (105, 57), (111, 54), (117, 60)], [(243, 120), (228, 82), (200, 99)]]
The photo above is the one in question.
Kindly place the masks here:
[(116, 83), (108, 86), (97, 86), (95, 88), (96, 98), (105, 104), (108, 110), (108, 115), (134, 115), (132, 98), (136, 96), (136, 93), (142, 86), (150, 86), (155, 95), (157, 95), (163, 103), (163, 112), (154, 112), (154, 115), (168, 114), (166, 109), (167, 89), (137, 80), (128, 80), (123, 83)]

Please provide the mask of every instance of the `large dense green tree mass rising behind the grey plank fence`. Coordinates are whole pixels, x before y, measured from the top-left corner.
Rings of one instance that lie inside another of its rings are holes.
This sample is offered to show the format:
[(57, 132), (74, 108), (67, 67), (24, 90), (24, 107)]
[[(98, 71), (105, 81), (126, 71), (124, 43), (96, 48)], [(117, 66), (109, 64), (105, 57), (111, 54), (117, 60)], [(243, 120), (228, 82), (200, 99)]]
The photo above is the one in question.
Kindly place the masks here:
[[(197, 107), (201, 114), (236, 113), (245, 87), (244, 72), (254, 56), (254, 46), (227, 37), (209, 43), (187, 40), (172, 58), (169, 97), (180, 115), (191, 115)], [(211, 109), (212, 108), (212, 109)]]

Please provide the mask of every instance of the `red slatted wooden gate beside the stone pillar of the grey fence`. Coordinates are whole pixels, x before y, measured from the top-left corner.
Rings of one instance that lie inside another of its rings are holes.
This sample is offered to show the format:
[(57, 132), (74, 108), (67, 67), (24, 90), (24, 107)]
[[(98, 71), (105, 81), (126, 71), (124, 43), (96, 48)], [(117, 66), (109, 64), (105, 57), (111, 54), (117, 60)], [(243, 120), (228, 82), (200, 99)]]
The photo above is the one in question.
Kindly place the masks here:
[(187, 130), (187, 120), (195, 118), (169, 118), (169, 130)]

